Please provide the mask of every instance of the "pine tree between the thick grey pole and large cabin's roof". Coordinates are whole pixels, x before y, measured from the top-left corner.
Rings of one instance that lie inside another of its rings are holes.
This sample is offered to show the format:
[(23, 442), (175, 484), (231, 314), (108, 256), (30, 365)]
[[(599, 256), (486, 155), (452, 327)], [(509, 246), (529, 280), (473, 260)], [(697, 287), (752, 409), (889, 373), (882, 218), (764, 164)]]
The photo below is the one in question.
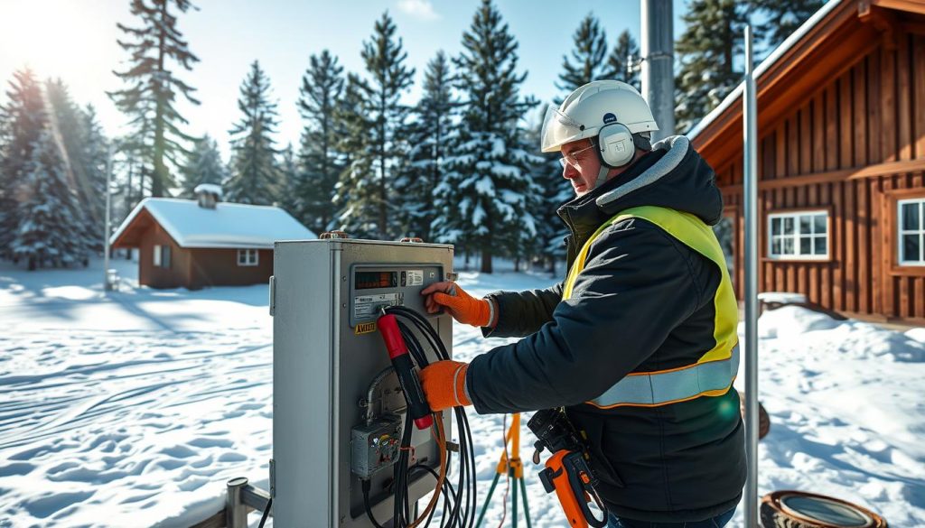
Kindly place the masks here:
[(734, 0), (692, 0), (682, 19), (687, 28), (674, 44), (681, 63), (675, 114), (678, 131), (686, 132), (741, 80), (733, 60), (742, 51), (747, 15)]

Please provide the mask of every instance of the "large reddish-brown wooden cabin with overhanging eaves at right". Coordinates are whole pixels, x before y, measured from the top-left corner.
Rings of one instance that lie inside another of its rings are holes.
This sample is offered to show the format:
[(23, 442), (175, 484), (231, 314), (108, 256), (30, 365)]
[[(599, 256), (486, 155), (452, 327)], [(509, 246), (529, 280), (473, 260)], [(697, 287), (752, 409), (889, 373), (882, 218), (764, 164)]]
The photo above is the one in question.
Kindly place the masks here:
[[(759, 290), (925, 324), (925, 1), (831, 0), (756, 68)], [(742, 86), (687, 136), (744, 280)]]

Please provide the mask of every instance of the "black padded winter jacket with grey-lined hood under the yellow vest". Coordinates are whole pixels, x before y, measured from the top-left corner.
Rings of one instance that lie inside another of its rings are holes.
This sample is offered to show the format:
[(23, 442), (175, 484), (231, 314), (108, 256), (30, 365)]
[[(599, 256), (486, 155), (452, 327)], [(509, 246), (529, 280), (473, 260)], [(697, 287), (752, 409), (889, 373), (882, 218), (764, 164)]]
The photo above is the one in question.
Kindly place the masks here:
[[(568, 265), (600, 225), (639, 205), (685, 211), (708, 225), (722, 216), (713, 170), (685, 137), (674, 136), (559, 209), (572, 233)], [(585, 403), (629, 373), (691, 364), (713, 348), (720, 278), (709, 259), (646, 220), (608, 227), (568, 301), (561, 301), (561, 284), (489, 295), (499, 320), (483, 329), (486, 336), (523, 339), (470, 364), (466, 388), (475, 411), (566, 407), (588, 435), (598, 491), (617, 516), (693, 522), (730, 510), (746, 475), (735, 390), (654, 408)]]

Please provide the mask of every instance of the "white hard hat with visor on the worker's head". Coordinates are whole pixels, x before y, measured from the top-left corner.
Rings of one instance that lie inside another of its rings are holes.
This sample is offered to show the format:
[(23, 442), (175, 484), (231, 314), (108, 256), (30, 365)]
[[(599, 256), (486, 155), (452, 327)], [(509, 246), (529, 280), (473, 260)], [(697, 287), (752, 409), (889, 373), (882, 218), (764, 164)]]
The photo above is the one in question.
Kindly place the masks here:
[(602, 127), (611, 124), (622, 124), (633, 134), (659, 129), (635, 88), (619, 80), (595, 80), (570, 93), (558, 108), (549, 106), (540, 148), (544, 153), (558, 152), (565, 143), (597, 137)]

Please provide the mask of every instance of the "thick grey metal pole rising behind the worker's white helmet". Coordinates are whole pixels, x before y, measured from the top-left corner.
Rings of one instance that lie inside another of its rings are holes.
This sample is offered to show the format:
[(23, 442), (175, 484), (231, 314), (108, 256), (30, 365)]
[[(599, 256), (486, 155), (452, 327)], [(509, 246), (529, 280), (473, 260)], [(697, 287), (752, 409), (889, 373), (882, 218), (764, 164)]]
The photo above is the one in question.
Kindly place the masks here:
[(672, 0), (641, 0), (642, 95), (659, 130), (652, 141), (674, 135), (674, 18)]

